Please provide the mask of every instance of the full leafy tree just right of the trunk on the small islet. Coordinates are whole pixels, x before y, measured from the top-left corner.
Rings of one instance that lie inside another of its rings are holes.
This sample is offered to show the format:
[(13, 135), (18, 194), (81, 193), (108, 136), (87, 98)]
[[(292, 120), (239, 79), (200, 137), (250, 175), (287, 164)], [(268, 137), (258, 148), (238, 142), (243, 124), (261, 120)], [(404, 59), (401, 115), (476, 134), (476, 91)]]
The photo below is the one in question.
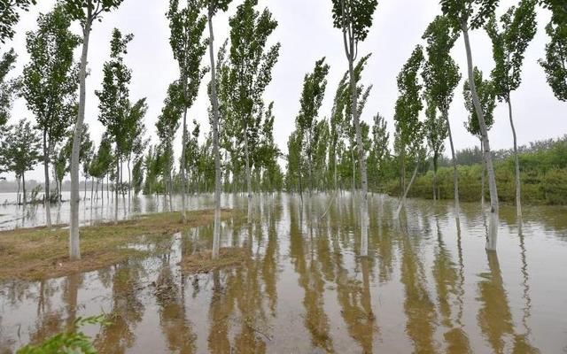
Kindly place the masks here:
[(272, 68), (279, 56), (280, 43), (266, 48), (268, 37), (277, 27), (268, 9), (255, 10), (258, 0), (245, 0), (238, 5), (237, 13), (230, 18), (230, 73), (232, 95), (232, 134), (245, 150), (245, 173), (248, 193), (248, 219), (252, 219), (252, 156), (260, 135), (259, 107), (262, 95), (272, 80)]

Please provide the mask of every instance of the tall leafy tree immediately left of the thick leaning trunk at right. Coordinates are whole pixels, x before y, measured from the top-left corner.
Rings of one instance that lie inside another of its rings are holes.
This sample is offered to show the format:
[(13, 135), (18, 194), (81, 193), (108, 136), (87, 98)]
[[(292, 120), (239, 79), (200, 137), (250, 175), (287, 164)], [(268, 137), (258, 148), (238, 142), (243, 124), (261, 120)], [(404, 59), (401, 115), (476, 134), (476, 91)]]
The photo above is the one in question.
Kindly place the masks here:
[[(454, 209), (455, 219), (459, 222), (459, 173), (457, 170), (457, 160), (454, 152), (453, 133), (451, 131), (451, 123), (449, 121), (449, 107), (453, 102), (454, 89), (456, 89), (461, 74), (459, 66), (451, 58), (450, 51), (457, 40), (451, 30), (451, 23), (447, 16), (437, 16), (425, 30), (423, 39), (427, 41), (427, 60), (423, 66), (423, 83), (425, 86), (425, 96), (431, 101), (428, 103), (428, 112), (430, 112), (431, 120), (428, 127), (442, 127), (437, 117), (437, 110), (441, 112), (441, 116), (445, 119), (446, 134), (449, 136), (449, 145), (451, 146), (451, 158), (453, 162), (453, 188), (454, 188)], [(431, 111), (430, 111), (431, 110)], [(435, 124), (437, 123), (437, 124)], [(429, 130), (429, 129), (428, 129)], [(429, 136), (433, 138), (433, 135)], [(442, 137), (436, 136), (436, 137)], [(428, 141), (432, 142), (431, 139)], [(435, 139), (438, 141), (438, 139)], [(437, 144), (435, 144), (437, 145)], [(437, 145), (440, 147), (439, 145)], [(435, 161), (434, 161), (435, 162)], [(437, 176), (433, 166), (434, 176)], [(436, 180), (436, 178), (434, 178)], [(434, 190), (435, 193), (435, 190)]]

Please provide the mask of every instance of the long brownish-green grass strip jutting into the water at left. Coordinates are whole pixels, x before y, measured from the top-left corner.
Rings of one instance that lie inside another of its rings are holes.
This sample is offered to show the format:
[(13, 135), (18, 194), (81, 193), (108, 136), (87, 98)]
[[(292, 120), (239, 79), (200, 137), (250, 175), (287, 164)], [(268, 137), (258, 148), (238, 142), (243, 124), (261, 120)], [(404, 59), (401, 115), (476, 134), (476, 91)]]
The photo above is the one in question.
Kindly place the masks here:
[[(222, 211), (222, 216), (230, 212)], [(131, 257), (147, 257), (147, 250), (128, 248), (132, 242), (159, 239), (191, 227), (213, 222), (214, 210), (146, 214), (118, 224), (102, 223), (81, 228), (82, 259), (68, 257), (69, 230), (46, 227), (21, 228), (0, 232), (0, 279), (40, 280), (85, 272), (121, 263)]]

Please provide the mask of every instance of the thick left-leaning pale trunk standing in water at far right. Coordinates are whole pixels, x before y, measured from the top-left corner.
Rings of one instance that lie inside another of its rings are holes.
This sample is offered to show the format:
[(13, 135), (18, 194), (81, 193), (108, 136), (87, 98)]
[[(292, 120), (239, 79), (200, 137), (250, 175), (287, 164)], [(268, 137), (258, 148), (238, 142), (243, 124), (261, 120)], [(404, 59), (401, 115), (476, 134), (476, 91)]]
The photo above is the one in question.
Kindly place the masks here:
[[(472, 54), (470, 50), (469, 41), (469, 29), (466, 24), (462, 23), (462, 36), (464, 37), (465, 49), (467, 51), (467, 64), (469, 71), (469, 85), (470, 93), (472, 95), (472, 103), (475, 106), (475, 112), (478, 118), (478, 127), (480, 127), (480, 133), (483, 142), (483, 148), (485, 150), (486, 159), (486, 170), (488, 171), (488, 189), (490, 190), (490, 212), (491, 212), (491, 222), (497, 222), (498, 220), (498, 190), (496, 189), (496, 177), (494, 175), (493, 157), (490, 152), (490, 142), (488, 141), (488, 130), (486, 129), (485, 116), (482, 112), (482, 107), (480, 105), (480, 100), (478, 99), (477, 87), (475, 85), (473, 65), (472, 65)], [(494, 225), (489, 228), (488, 240), (496, 239), (498, 227)], [(487, 250), (495, 250), (496, 242), (486, 242)]]

